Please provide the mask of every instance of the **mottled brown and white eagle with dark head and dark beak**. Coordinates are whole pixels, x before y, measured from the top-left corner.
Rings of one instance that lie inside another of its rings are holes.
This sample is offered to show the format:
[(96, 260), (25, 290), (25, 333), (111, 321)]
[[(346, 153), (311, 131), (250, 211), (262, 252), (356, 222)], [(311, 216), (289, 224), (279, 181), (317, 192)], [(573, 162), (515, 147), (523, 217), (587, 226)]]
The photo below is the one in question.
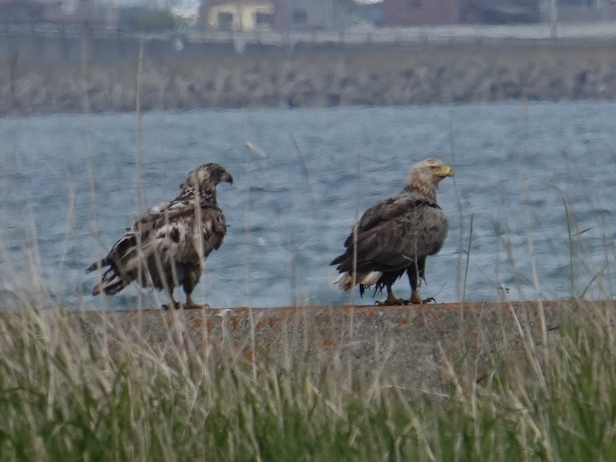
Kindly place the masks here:
[(197, 307), (190, 294), (205, 259), (220, 248), (227, 233), (225, 216), (216, 201), (216, 185), (221, 182), (233, 184), (233, 178), (219, 164), (205, 164), (190, 172), (177, 198), (142, 214), (107, 256), (88, 267), (88, 273), (109, 267), (92, 294), (116, 294), (137, 282), (166, 291), (172, 306), (179, 308), (173, 289), (182, 286), (184, 307)]

